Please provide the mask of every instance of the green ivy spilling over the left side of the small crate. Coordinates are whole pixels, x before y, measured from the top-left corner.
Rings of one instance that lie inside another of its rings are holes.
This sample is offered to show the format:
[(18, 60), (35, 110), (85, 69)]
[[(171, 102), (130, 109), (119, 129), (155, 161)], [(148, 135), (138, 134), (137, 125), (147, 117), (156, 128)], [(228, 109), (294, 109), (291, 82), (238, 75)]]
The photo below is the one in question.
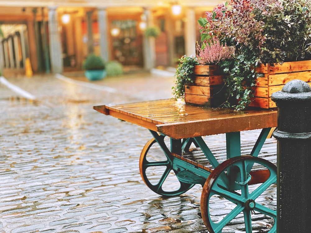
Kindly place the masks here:
[(175, 74), (175, 86), (173, 89), (173, 94), (175, 98), (181, 98), (185, 94), (185, 87), (189, 82), (193, 82), (192, 74), (193, 67), (199, 63), (194, 57), (186, 57), (185, 55), (179, 59), (179, 65), (176, 69)]

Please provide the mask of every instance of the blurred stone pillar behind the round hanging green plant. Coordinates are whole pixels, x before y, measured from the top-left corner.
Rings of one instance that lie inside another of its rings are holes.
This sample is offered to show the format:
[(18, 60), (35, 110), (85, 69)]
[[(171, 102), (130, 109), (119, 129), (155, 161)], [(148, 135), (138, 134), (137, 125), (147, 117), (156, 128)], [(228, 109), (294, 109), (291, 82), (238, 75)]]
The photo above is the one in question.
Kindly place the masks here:
[[(149, 9), (144, 10), (146, 16), (147, 27), (153, 26), (153, 16), (152, 12)], [(155, 38), (147, 37), (144, 35), (143, 39), (143, 54), (144, 54), (144, 68), (150, 70), (155, 66), (156, 60), (156, 43)]]

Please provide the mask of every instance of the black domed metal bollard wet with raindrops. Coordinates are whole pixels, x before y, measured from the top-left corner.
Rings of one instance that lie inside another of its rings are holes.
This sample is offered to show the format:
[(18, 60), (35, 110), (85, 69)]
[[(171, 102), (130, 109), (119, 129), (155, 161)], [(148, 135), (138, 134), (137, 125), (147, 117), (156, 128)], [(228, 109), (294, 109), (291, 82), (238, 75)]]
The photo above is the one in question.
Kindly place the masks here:
[(277, 233), (311, 232), (311, 88), (292, 80), (276, 102)]

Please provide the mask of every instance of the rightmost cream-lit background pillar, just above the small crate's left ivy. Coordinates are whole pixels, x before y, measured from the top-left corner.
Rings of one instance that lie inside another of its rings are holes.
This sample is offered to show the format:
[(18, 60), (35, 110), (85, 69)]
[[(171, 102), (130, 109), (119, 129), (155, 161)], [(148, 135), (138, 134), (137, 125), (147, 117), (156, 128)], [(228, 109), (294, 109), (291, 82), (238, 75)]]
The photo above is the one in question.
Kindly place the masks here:
[(186, 56), (195, 56), (196, 53), (196, 17), (193, 8), (188, 8), (186, 11), (187, 21), (185, 23), (185, 52)]

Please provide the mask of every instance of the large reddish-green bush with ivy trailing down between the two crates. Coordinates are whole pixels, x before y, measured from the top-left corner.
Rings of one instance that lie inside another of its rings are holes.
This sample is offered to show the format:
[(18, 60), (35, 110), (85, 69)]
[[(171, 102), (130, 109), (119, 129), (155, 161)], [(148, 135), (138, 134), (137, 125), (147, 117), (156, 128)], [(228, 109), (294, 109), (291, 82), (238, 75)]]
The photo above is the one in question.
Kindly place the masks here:
[(311, 59), (310, 0), (229, 0), (198, 23), (202, 47), (215, 36), (235, 46), (232, 60), (219, 65), (227, 75), (225, 105), (236, 110), (244, 109), (253, 96), (254, 67)]

